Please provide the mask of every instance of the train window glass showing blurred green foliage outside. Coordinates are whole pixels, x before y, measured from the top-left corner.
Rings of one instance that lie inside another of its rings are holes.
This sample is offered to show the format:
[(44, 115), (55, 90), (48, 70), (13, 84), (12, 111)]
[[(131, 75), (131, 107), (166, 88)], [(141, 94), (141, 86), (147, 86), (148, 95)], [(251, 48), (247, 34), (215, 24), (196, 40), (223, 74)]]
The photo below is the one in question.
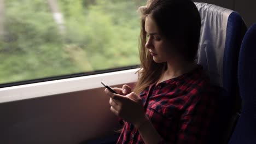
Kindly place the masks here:
[(139, 63), (144, 0), (0, 0), (0, 84)]

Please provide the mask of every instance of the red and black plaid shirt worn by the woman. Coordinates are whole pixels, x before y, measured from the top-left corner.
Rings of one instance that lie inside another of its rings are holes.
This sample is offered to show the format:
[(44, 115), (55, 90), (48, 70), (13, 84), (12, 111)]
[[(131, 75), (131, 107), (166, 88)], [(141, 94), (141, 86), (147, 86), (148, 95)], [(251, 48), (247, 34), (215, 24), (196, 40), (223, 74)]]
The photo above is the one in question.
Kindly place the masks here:
[[(159, 143), (205, 143), (217, 97), (202, 67), (144, 89), (146, 115), (161, 135)], [(144, 143), (138, 130), (125, 122), (117, 143)]]

